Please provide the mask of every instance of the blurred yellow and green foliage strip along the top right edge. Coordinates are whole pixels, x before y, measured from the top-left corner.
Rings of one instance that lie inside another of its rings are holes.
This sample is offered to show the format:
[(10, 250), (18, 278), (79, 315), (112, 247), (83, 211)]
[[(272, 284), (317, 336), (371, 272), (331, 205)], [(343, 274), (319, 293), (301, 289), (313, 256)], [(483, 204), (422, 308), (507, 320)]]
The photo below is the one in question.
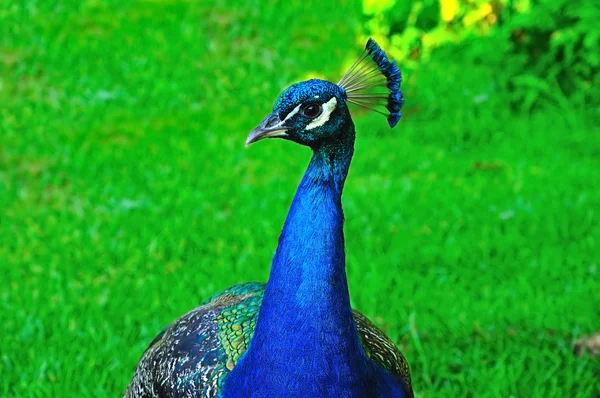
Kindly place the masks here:
[(367, 30), (388, 37), (396, 57), (413, 67), (432, 56), (483, 65), (525, 110), (599, 104), (597, 1), (412, 0), (366, 12)]

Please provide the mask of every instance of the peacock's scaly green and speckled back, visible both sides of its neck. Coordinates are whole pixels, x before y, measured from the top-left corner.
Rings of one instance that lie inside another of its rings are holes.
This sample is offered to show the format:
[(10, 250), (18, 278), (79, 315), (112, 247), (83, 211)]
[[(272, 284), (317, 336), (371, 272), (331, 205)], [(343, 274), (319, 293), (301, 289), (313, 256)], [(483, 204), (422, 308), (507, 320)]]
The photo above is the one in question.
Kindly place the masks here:
[[(263, 283), (232, 286), (167, 326), (146, 349), (125, 397), (217, 397), (254, 335), (264, 290)], [(410, 387), (404, 355), (367, 317), (353, 313), (367, 356)]]

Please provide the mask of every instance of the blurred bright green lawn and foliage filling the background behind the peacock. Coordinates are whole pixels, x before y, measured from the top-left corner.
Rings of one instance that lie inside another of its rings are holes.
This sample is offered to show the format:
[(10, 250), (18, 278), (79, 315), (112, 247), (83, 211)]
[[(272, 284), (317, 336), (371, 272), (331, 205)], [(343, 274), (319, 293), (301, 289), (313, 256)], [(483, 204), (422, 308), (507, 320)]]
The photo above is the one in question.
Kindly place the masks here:
[(352, 302), (419, 397), (600, 397), (597, 2), (0, 2), (0, 396), (119, 396), (152, 338), (267, 278), (309, 158), (279, 92), (399, 61), (355, 109)]

